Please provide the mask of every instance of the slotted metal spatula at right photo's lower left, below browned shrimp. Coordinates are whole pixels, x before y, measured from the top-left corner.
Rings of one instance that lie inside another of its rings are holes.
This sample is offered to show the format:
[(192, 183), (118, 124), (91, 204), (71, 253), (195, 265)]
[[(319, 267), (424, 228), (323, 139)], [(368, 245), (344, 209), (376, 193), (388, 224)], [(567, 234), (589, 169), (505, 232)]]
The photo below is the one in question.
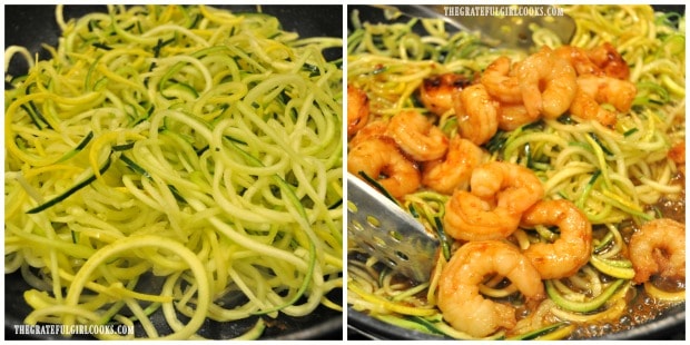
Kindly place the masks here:
[(395, 203), (347, 174), (348, 239), (392, 269), (426, 282), (438, 239)]

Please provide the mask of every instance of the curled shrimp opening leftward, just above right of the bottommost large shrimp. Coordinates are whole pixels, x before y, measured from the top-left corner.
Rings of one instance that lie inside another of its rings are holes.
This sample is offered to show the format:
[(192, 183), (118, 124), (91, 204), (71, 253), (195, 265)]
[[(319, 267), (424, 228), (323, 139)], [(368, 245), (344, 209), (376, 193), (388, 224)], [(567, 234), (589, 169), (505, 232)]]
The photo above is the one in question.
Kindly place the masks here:
[(570, 277), (589, 262), (592, 225), (573, 203), (564, 199), (539, 201), (524, 213), (522, 225), (558, 226), (561, 230), (554, 243), (533, 244), (524, 252), (543, 279)]

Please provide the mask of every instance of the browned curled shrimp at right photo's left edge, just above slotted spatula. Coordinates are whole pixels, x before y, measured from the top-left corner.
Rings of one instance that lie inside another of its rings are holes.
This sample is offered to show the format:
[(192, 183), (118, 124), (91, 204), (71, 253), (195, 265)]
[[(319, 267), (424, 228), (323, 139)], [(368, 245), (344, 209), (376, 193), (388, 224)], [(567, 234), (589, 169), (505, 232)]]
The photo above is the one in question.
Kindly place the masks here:
[(347, 171), (357, 176), (365, 172), (396, 198), (417, 190), (422, 179), (416, 165), (387, 137), (374, 137), (352, 148)]

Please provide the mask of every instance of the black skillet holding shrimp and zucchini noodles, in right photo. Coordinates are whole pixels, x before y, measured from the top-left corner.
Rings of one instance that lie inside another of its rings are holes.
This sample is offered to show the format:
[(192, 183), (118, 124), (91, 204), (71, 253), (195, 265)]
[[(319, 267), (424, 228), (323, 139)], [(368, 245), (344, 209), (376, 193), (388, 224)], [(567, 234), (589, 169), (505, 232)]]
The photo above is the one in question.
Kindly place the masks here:
[[(678, 12), (684, 14), (684, 6), (654, 6), (658, 11)], [(348, 17), (353, 10), (357, 10), (361, 22), (392, 22), (383, 16), (381, 9), (371, 6), (348, 6)], [(393, 22), (407, 22), (410, 18), (401, 17)], [(352, 21), (348, 18), (348, 28), (352, 29)], [(413, 30), (423, 32), (421, 26), (415, 26)], [(448, 31), (453, 28), (447, 27)], [(348, 307), (347, 309), (347, 338), (348, 339), (416, 339), (416, 341), (437, 341), (444, 339), (441, 336), (430, 335), (417, 331), (393, 326), (391, 324), (372, 318), (364, 313), (359, 313)], [(681, 304), (664, 310), (652, 322), (637, 326), (632, 329), (608, 334), (597, 339), (686, 339), (686, 305)]]

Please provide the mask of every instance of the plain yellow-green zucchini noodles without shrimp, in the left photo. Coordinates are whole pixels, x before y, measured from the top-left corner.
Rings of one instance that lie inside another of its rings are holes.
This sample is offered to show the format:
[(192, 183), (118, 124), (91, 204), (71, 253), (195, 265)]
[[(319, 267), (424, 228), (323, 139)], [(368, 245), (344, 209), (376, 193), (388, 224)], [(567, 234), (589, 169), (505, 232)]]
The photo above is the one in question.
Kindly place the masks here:
[(187, 339), (256, 318), (238, 336), (258, 338), (278, 315), (342, 310), (343, 72), (324, 56), (342, 39), (205, 6), (62, 11), (50, 59), (6, 49), (4, 262), (31, 286), (24, 322)]

